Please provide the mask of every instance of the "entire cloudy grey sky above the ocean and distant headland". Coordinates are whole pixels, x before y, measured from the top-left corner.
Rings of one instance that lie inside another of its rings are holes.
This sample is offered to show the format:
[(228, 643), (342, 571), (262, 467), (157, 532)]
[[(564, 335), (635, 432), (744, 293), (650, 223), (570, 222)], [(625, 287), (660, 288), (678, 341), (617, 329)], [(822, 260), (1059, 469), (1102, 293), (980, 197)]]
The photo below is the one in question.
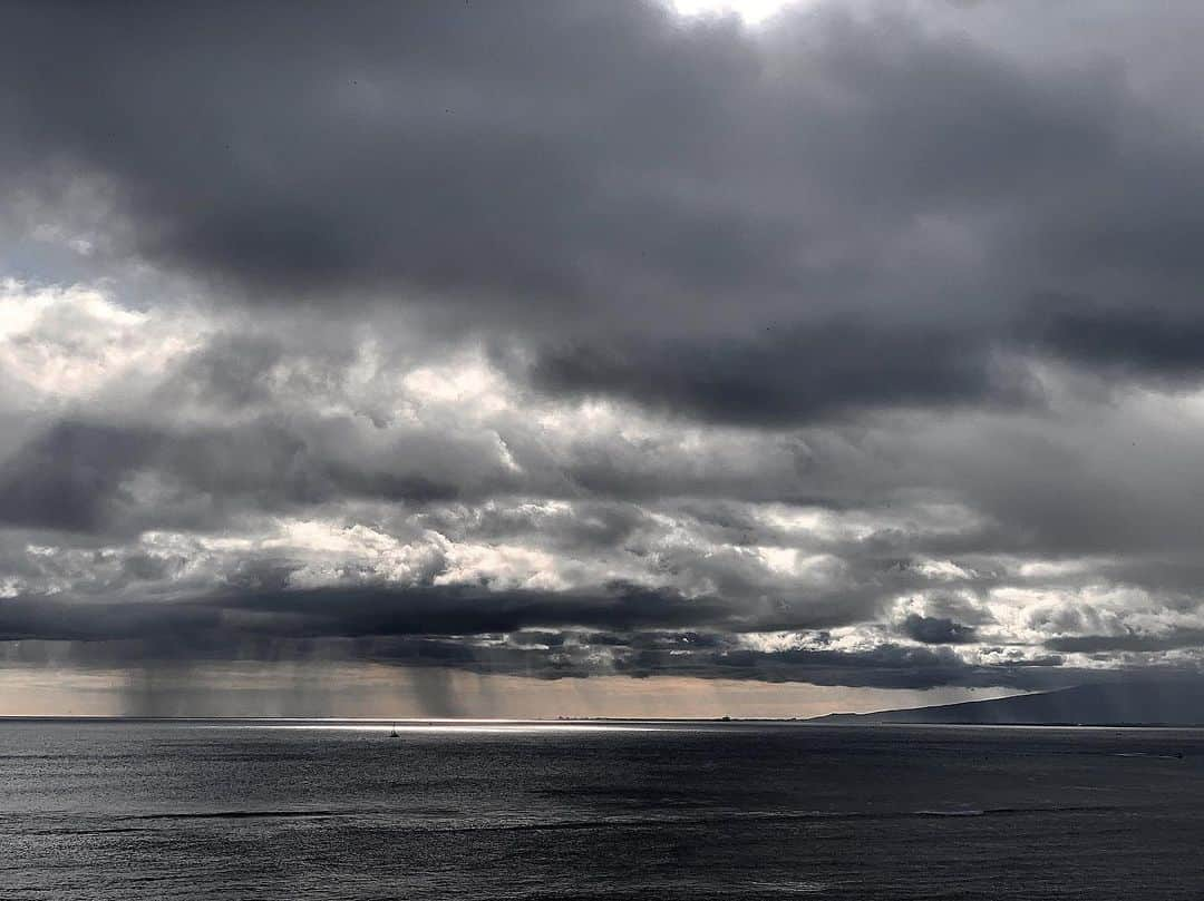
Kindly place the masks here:
[(1196, 674), (1204, 7), (0, 11), (0, 713)]

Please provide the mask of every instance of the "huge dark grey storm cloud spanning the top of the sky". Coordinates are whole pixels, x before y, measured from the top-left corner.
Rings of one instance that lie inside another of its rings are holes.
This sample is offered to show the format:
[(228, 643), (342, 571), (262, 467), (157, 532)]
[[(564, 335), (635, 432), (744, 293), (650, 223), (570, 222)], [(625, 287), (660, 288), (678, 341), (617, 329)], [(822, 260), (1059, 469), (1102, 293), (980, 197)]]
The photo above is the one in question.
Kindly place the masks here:
[[(10, 4), (0, 154), (26, 192), (108, 179), (113, 253), (517, 330), (554, 393), (746, 423), (1015, 402), (1034, 340), (1194, 373), (1199, 138), (1115, 60), (920, 12)], [(1031, 303), (1084, 292), (1087, 321)]]

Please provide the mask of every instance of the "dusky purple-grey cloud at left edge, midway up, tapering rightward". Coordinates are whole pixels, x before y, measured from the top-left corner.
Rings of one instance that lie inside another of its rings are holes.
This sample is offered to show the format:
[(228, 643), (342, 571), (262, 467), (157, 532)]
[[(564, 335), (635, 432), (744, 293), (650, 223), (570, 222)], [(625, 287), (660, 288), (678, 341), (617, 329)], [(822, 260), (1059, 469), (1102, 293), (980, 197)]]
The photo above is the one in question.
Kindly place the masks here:
[[(458, 484), (431, 475), (441, 451), (444, 463), (455, 451), (437, 437), (403, 438), (389, 449), (402, 462), (373, 468), (336, 450), (355, 425), (312, 422), (307, 431), (266, 417), (173, 431), (60, 421), (0, 466), (0, 523), (122, 534), (154, 524), (220, 527), (240, 505), (281, 510), (348, 497), (425, 503), (460, 493)], [(136, 497), (131, 480), (140, 473), (159, 479), (163, 493)]]

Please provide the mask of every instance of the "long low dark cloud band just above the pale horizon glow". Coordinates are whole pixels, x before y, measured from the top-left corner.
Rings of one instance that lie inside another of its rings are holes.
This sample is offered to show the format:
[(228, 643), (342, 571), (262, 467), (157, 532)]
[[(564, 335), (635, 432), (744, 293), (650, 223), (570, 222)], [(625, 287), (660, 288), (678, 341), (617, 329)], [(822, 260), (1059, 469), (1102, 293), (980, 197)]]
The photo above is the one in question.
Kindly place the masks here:
[[(539, 678), (677, 675), (910, 689), (1047, 688), (1109, 677), (1076, 670), (1038, 672), (1023, 660), (973, 665), (948, 648), (885, 644), (867, 651), (756, 651), (740, 647), (724, 633), (660, 630), (680, 622), (722, 623), (727, 612), (715, 601), (686, 601), (672, 593), (622, 587), (577, 595), (424, 589), (290, 592), (232, 601), (146, 604), (16, 599), (0, 605), (0, 636), (20, 642), (18, 652), (7, 657), (10, 662), (45, 663), (46, 648), (69, 641), (75, 663), (100, 666), (305, 660), (325, 654)], [(585, 630), (504, 634), (524, 623), (573, 623)], [(624, 632), (592, 632), (597, 626)], [(464, 628), (482, 632), (448, 632)], [(1043, 670), (1058, 665), (1052, 658), (1038, 663)]]

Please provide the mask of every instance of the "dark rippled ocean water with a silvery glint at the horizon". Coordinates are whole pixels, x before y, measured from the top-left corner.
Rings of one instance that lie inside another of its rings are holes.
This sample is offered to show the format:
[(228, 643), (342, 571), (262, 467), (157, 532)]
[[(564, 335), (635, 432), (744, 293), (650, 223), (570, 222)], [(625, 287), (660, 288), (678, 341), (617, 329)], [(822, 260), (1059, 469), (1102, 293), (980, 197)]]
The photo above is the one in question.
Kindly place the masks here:
[(0, 780), (6, 901), (1204, 897), (1196, 730), (4, 722)]

